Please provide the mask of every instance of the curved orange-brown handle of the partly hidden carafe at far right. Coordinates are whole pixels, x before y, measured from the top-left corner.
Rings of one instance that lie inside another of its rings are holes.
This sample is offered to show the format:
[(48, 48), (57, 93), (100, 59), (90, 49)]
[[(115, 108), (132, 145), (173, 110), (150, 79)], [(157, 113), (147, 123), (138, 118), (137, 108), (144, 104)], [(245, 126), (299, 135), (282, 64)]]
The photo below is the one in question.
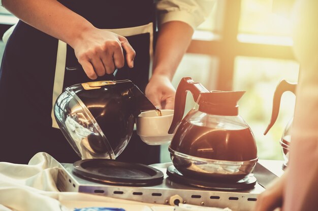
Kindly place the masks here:
[(284, 92), (290, 91), (296, 95), (296, 86), (297, 83), (291, 83), (286, 80), (281, 80), (275, 90), (274, 98), (273, 98), (273, 110), (272, 110), (272, 116), (271, 120), (267, 126), (266, 131), (264, 132), (264, 135), (267, 134), (267, 132), (272, 128), (273, 124), (275, 123), (278, 113), (279, 113), (279, 106), (280, 106), (280, 99)]

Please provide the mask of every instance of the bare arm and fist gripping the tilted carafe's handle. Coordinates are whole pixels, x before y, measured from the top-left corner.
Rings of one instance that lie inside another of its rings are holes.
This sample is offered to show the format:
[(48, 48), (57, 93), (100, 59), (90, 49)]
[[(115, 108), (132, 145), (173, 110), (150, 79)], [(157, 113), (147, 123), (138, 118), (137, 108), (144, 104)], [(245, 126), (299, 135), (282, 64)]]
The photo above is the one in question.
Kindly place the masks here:
[(125, 37), (94, 27), (56, 0), (3, 0), (2, 4), (25, 23), (69, 44), (92, 79), (124, 65), (122, 48), (133, 67), (135, 51)]

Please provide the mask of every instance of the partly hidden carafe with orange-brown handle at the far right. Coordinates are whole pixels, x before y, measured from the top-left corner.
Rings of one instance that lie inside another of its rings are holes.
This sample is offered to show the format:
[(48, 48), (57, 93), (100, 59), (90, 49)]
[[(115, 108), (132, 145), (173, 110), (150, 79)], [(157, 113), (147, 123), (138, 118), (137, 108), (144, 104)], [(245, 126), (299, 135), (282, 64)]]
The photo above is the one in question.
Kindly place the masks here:
[[(290, 91), (294, 94), (296, 94), (296, 87), (297, 83), (291, 83), (286, 80), (281, 80), (275, 90), (274, 97), (273, 97), (273, 109), (272, 109), (272, 116), (271, 120), (267, 126), (266, 131), (264, 132), (264, 135), (268, 133), (268, 131), (272, 128), (274, 125), (278, 113), (279, 113), (279, 106), (280, 106), (280, 100), (281, 96), (284, 92)], [(288, 157), (289, 157), (289, 146), (291, 142), (291, 129), (293, 125), (293, 117), (289, 120), (287, 125), (285, 126), (284, 132), (282, 134), (281, 140), (279, 142), (282, 150), (282, 155), (284, 158), (283, 167), (286, 167), (288, 165)]]

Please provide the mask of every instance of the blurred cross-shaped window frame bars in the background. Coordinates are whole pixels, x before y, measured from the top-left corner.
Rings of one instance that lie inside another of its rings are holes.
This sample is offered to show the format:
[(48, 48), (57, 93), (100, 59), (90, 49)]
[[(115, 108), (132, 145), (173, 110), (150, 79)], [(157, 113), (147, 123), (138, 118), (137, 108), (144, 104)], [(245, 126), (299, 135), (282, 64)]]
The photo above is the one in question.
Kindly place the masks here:
[(295, 60), (291, 46), (242, 43), (237, 39), (241, 16), (241, 2), (241, 0), (226, 1), (224, 17), (220, 18), (220, 21), (224, 21), (222, 23), (222, 30), (218, 32), (221, 37), (220, 39), (193, 39), (187, 49), (187, 53), (204, 54), (219, 59), (215, 87), (221, 91), (230, 91), (233, 89), (234, 65), (237, 56)]

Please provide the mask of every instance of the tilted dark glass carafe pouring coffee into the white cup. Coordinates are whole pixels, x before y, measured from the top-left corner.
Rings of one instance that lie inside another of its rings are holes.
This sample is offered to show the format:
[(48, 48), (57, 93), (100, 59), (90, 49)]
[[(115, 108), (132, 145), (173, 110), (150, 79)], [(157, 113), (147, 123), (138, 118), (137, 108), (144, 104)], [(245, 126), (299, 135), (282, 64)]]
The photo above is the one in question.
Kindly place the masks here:
[(54, 106), (60, 130), (82, 159), (115, 159), (132, 137), (135, 118), (146, 110), (156, 107), (130, 80), (67, 87)]

